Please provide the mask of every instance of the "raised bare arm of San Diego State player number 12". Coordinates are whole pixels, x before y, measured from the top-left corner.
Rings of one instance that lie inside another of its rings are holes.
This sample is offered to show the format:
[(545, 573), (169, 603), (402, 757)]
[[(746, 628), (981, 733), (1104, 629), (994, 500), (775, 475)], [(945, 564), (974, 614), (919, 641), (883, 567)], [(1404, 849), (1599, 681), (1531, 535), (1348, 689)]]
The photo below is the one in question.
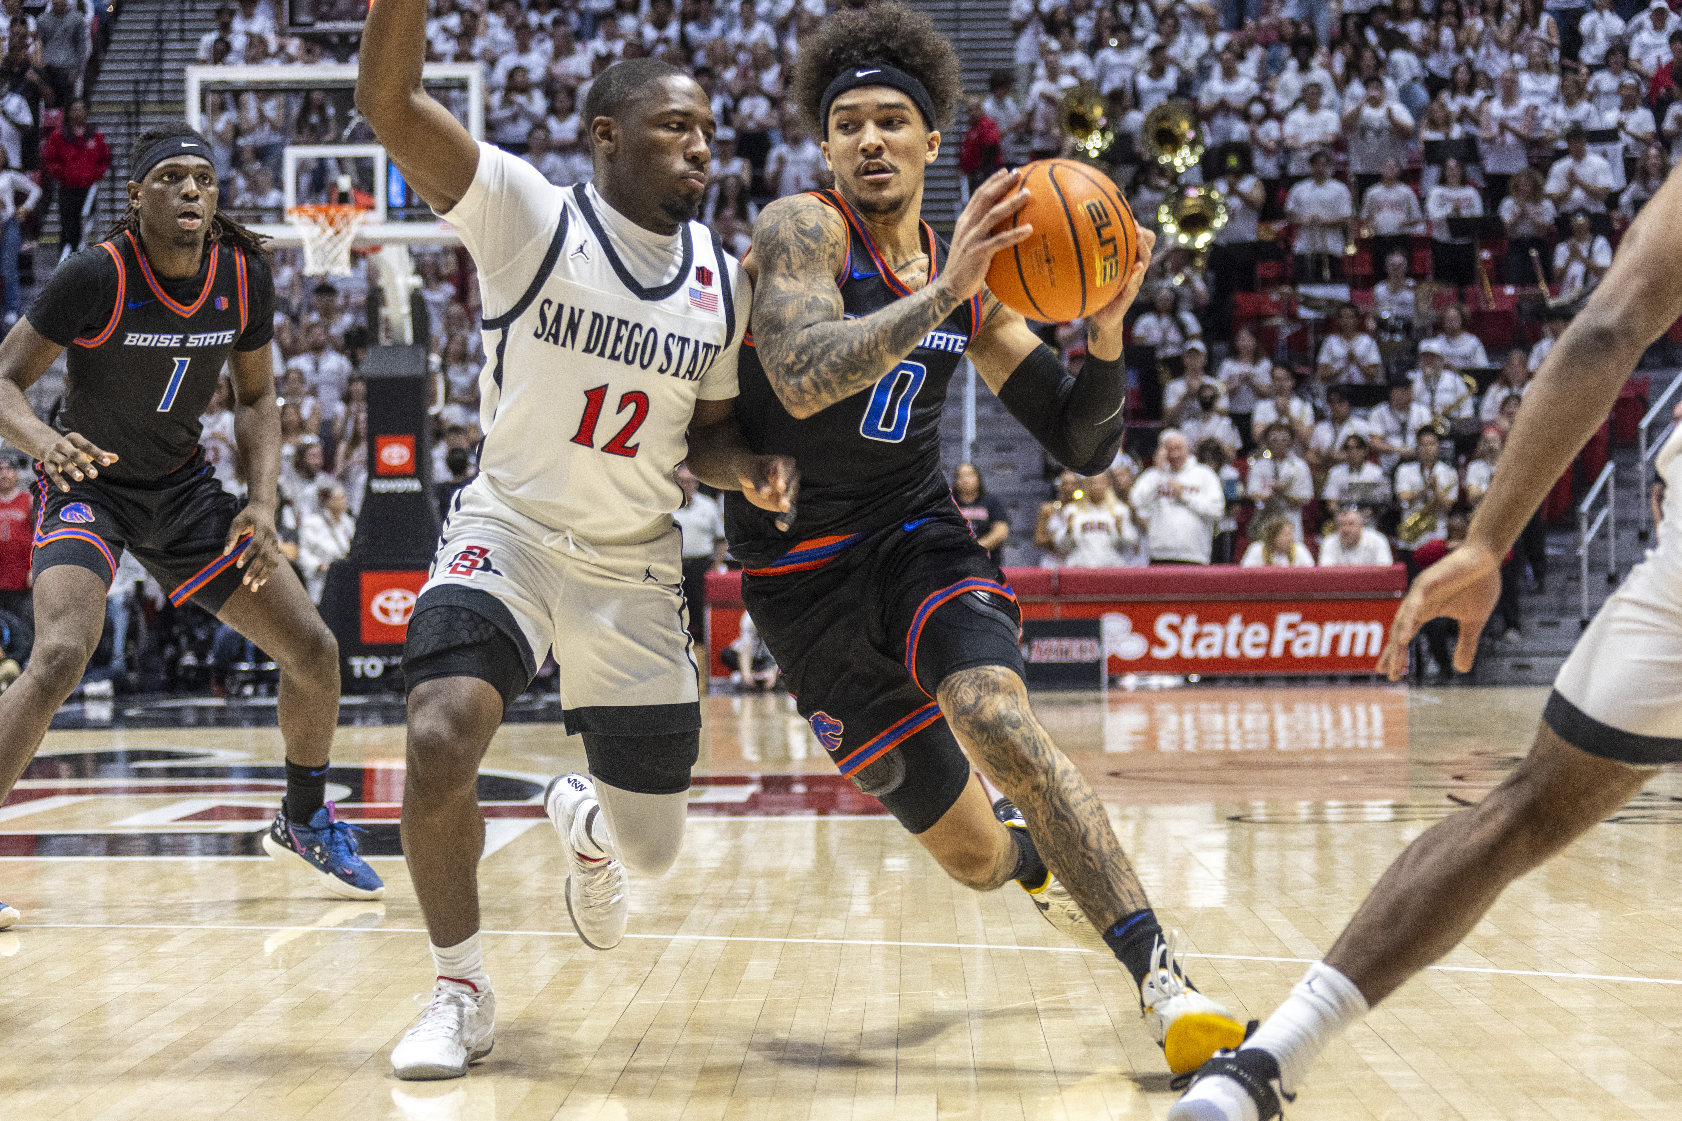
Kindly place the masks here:
[(479, 146), (420, 84), (426, 0), (380, 0), (368, 8), (357, 69), (357, 109), (410, 187), (444, 213), (468, 193)]

